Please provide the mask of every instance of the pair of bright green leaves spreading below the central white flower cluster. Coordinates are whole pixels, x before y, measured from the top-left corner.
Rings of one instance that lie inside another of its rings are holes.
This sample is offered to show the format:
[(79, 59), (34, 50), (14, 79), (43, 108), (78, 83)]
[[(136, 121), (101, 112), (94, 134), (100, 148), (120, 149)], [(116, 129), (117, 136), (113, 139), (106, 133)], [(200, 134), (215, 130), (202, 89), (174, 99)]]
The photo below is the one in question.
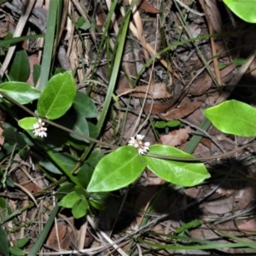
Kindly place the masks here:
[[(165, 145), (154, 145), (150, 154), (194, 158), (191, 154)], [(137, 148), (125, 146), (114, 150), (97, 164), (87, 190), (103, 192), (121, 189), (133, 183), (148, 169), (167, 182), (180, 186), (194, 186), (210, 177), (206, 167), (201, 163), (161, 160), (138, 154)]]

